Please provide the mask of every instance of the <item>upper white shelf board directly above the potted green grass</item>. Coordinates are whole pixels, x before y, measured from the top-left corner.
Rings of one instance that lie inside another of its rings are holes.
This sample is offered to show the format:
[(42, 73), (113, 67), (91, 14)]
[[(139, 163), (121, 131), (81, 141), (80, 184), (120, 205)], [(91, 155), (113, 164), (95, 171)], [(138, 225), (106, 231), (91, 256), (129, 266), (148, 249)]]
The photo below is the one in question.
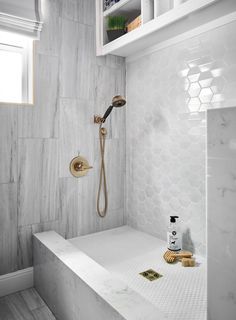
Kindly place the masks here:
[(111, 8), (103, 11), (103, 16), (111, 16), (113, 14), (122, 14), (124, 12), (130, 12), (135, 10), (141, 10), (141, 0), (121, 0), (114, 4)]

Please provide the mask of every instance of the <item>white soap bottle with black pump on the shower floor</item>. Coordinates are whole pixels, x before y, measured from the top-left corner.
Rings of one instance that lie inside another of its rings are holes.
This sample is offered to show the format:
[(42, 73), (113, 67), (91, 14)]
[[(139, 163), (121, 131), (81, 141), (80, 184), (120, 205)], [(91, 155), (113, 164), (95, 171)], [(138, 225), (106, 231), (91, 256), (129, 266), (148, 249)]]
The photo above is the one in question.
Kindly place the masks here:
[(170, 226), (167, 231), (167, 247), (171, 251), (180, 251), (182, 249), (182, 234), (176, 222), (178, 218), (178, 216), (170, 216)]

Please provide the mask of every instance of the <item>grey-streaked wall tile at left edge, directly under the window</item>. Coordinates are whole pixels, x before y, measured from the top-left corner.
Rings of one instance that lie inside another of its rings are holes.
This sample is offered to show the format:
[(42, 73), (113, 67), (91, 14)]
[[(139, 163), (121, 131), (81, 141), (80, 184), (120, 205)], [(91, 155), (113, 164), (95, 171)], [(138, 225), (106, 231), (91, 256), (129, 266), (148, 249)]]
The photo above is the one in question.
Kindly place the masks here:
[(17, 113), (15, 108), (0, 108), (0, 183), (16, 181)]

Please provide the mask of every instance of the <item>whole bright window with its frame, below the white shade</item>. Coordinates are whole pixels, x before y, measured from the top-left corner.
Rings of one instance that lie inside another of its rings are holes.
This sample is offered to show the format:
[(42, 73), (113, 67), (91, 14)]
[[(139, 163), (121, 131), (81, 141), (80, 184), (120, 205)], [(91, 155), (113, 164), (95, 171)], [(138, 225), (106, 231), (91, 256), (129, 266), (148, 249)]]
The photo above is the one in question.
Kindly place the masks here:
[(0, 31), (0, 102), (33, 103), (33, 40)]

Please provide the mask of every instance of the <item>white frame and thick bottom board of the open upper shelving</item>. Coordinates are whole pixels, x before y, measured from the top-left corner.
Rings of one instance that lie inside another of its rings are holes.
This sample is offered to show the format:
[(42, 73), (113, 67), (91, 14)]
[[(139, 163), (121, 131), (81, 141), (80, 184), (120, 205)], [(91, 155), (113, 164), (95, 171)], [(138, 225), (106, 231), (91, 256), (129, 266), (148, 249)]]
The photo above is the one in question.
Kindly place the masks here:
[[(99, 2), (102, 0), (97, 1)], [(107, 15), (109, 15), (110, 10), (112, 10), (113, 14), (115, 12), (120, 12), (119, 10), (121, 10), (123, 6), (128, 4), (131, 5), (131, 3), (134, 5), (135, 1), (136, 0), (121, 0), (105, 12), (108, 12)], [(141, 1), (143, 10), (143, 3), (153, 0)], [(154, 0), (153, 2), (154, 11), (156, 11), (155, 1), (159, 0)], [(99, 5), (97, 3), (97, 10), (98, 9)], [(112, 42), (105, 43), (104, 34), (106, 30), (104, 30), (104, 17), (103, 12), (100, 11), (100, 23), (97, 24), (97, 27), (100, 28), (97, 33), (97, 55), (115, 54), (128, 57), (137, 54), (137, 52), (142, 51), (147, 47), (160, 45), (163, 42), (176, 38), (186, 32), (190, 32), (200, 26), (209, 26), (209, 23), (213, 23), (212, 25), (214, 26), (214, 21), (219, 20), (226, 15), (230, 16), (232, 12), (236, 12), (235, 0), (188, 0), (166, 13), (154, 17), (154, 19), (151, 19), (147, 23), (143, 23), (141, 27), (126, 33), (122, 37)], [(99, 11), (97, 11), (97, 16), (98, 13)], [(143, 16), (144, 13), (142, 12), (142, 17)], [(223, 19), (222, 21), (225, 20)]]

